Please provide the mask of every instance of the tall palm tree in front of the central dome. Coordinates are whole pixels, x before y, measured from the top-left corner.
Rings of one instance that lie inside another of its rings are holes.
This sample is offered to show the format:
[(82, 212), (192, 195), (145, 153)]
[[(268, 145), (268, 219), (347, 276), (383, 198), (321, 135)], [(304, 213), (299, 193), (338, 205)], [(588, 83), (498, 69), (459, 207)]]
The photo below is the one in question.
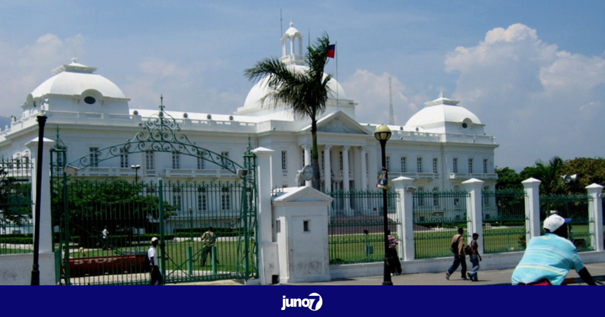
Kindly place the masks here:
[[(307, 48), (307, 67), (296, 68), (286, 65), (277, 57), (258, 61), (244, 71), (248, 80), (266, 80), (269, 92), (261, 98), (263, 105), (270, 101), (273, 107), (291, 109), (295, 117), (311, 119), (311, 166), (313, 167), (313, 188), (321, 188), (319, 176), (319, 153), (317, 148), (317, 117), (325, 111), (325, 103), (331, 89), (328, 82), (332, 75), (324, 74), (330, 40), (327, 33), (319, 37), (315, 44)], [(329, 188), (327, 188), (328, 190)]]

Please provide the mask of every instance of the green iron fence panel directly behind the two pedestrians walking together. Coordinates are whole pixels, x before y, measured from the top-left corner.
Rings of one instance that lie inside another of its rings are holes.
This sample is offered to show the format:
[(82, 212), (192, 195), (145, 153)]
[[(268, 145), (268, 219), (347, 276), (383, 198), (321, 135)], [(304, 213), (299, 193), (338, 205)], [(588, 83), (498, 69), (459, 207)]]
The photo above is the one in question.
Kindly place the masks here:
[(468, 228), (466, 191), (416, 191), (413, 198), (415, 258), (453, 255), (452, 237), (457, 228)]

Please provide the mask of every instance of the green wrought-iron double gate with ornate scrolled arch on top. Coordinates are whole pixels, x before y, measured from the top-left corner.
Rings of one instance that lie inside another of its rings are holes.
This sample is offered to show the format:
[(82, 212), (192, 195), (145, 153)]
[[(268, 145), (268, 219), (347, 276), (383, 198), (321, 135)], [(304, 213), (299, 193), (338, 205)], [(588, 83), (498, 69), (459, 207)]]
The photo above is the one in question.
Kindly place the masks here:
[[(57, 127), (57, 142), (51, 150), (53, 222), (60, 228), (62, 251), (57, 252), (61, 263), (57, 281), (146, 284), (149, 277), (142, 264), (151, 236), (160, 239), (165, 283), (258, 277), (253, 239), (257, 230), (256, 162), (250, 141), (240, 165), (189, 141), (177, 120), (164, 111), (163, 103), (159, 107), (157, 114), (139, 124), (142, 130), (132, 139), (68, 163), (67, 147)], [(148, 151), (203, 159), (228, 171), (229, 180), (101, 182), (74, 177), (108, 159)], [(217, 241), (208, 246), (200, 236), (212, 226)], [(109, 234), (100, 235), (102, 228)], [(204, 262), (209, 265), (198, 266)]]

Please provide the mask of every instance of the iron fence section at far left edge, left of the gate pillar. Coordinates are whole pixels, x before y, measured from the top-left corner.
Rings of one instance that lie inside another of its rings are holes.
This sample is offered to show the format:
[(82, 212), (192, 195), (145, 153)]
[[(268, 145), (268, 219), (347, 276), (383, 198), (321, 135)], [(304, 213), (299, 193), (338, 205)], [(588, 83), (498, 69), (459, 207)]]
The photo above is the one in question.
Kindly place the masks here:
[(0, 160), (0, 254), (33, 252), (32, 170), (29, 161)]

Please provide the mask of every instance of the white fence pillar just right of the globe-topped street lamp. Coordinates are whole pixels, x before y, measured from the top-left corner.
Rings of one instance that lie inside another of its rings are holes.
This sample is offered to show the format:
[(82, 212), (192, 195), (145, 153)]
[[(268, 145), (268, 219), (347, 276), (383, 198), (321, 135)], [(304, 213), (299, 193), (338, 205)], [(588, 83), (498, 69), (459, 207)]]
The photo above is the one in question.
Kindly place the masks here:
[[(399, 200), (397, 201), (397, 217), (401, 219), (401, 224), (397, 226), (397, 234), (401, 243), (399, 243), (399, 256), (404, 261), (414, 260), (414, 214), (413, 214), (413, 198), (412, 193), (415, 188), (411, 188), (414, 179), (407, 177), (398, 177), (391, 181), (393, 188), (397, 194), (399, 194)], [(410, 190), (408, 190), (410, 187)]]

